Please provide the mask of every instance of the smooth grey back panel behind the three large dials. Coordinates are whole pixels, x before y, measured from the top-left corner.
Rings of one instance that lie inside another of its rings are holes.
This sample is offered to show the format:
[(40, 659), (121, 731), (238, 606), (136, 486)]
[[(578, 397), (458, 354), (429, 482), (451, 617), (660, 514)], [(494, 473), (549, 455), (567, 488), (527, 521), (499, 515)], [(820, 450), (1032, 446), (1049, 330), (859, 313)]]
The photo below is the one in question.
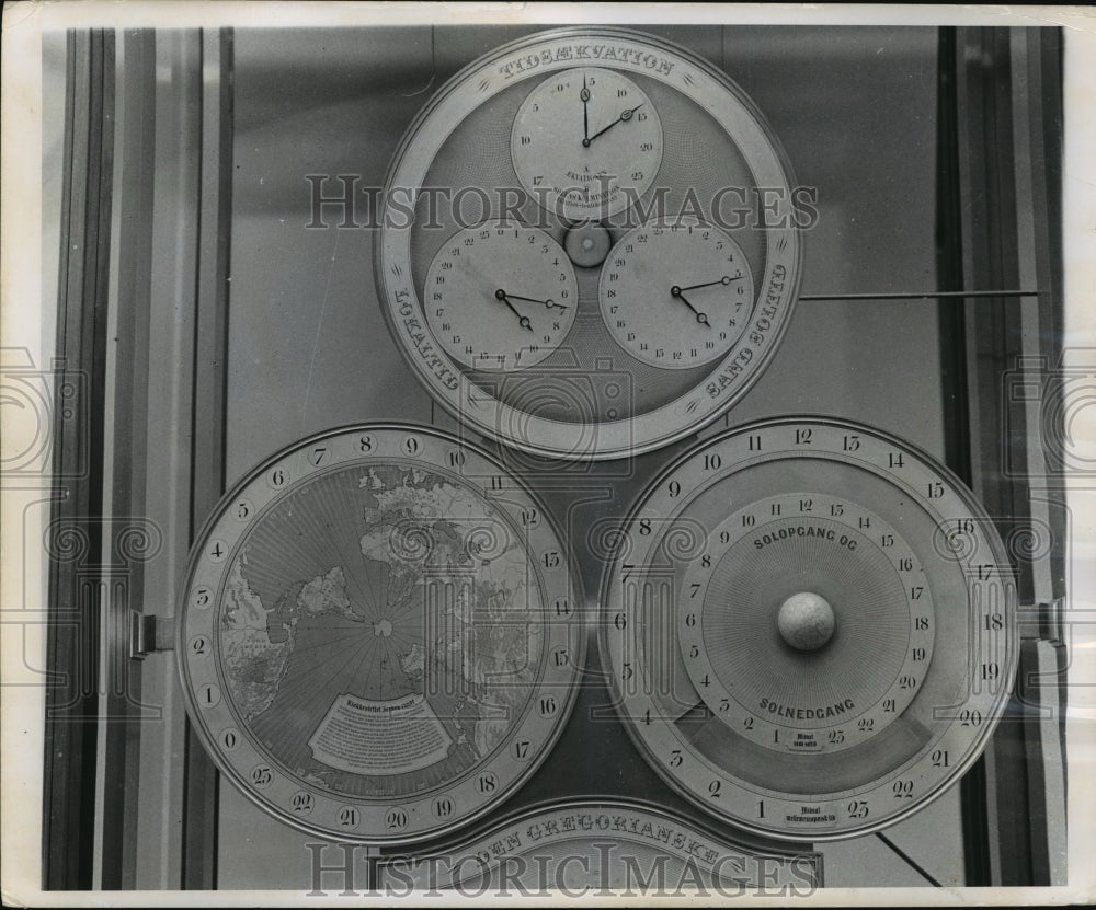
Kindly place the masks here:
[[(650, 31), (721, 65), (764, 112), (799, 184), (817, 192), (804, 295), (935, 289), (935, 30)], [(336, 227), (344, 216), (338, 201), (322, 207), (324, 226), (309, 224), (317, 193), (342, 196), (339, 175), (357, 181), (354, 216), (364, 221), (362, 189), (383, 185), (422, 104), (449, 74), (517, 34), (237, 30), (229, 484), (310, 431), (357, 419), (447, 419), (380, 316), (373, 231)], [(943, 456), (938, 342), (931, 301), (804, 301), (767, 373), (729, 419), (848, 416)], [(568, 761), (635, 765), (619, 730), (598, 729), (596, 744), (590, 739), (589, 729), (564, 736), (540, 774), (566, 774), (552, 769)], [(566, 776), (537, 783), (530, 790), (541, 797), (581, 787)], [(925, 837), (934, 828), (954, 833)], [(958, 884), (960, 830), (952, 794), (895, 838), (916, 843), (918, 862), (939, 880)], [(310, 887), (309, 840), (221, 787), (219, 887)], [(834, 851), (832, 884), (857, 880), (868, 849), (872, 880), (923, 882), (872, 841)]]

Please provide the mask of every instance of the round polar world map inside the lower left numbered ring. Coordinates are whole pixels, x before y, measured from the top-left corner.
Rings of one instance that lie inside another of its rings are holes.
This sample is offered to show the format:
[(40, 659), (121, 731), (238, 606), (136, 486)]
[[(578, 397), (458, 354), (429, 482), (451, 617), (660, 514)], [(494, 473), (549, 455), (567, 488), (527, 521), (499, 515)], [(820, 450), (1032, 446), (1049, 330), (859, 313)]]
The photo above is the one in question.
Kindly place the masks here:
[(322, 787), (390, 797), (447, 780), (490, 755), (527, 696), (541, 650), (529, 580), (514, 530), (453, 479), (319, 476), (229, 569), (229, 693), (270, 752)]

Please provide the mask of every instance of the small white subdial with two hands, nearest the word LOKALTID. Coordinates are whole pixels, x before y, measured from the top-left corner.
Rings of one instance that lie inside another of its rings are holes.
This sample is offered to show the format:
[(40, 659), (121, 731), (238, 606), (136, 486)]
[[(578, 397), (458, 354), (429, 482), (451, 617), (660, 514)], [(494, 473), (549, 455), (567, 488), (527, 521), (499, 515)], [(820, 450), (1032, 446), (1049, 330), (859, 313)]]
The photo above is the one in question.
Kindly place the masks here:
[(544, 231), (492, 222), (437, 251), (423, 289), (426, 322), (445, 352), (476, 370), (516, 370), (556, 350), (574, 322), (574, 269)]

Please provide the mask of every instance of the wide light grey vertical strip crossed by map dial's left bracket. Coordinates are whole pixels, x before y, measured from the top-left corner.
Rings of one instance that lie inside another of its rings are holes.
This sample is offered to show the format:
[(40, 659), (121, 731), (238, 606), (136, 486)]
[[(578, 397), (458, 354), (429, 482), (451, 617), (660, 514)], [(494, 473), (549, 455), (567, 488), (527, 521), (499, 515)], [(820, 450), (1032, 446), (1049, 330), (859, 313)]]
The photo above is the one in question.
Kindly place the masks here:
[[(191, 33), (193, 36), (194, 33)], [(146, 471), (144, 518), (163, 529), (163, 546), (144, 566), (142, 598), (161, 615), (172, 612), (178, 580), (186, 564), (191, 512), (191, 395), (193, 393), (196, 260), (194, 208), (197, 199), (194, 108), (196, 79), (187, 81), (185, 61), (196, 61), (184, 33), (126, 32), (126, 62), (146, 114), (142, 147), (135, 166), (148, 180), (145, 220), (137, 221), (149, 245), (148, 273), (134, 276), (135, 292), (148, 299), (149, 362), (145, 389)], [(196, 65), (187, 70), (196, 73)], [(140, 266), (144, 268), (144, 264)], [(162, 612), (161, 612), (162, 611)], [(141, 661), (141, 700), (156, 705), (162, 721), (146, 727), (140, 742), (140, 790), (134, 865), (135, 886), (174, 889), (182, 882), (185, 711), (172, 654)]]

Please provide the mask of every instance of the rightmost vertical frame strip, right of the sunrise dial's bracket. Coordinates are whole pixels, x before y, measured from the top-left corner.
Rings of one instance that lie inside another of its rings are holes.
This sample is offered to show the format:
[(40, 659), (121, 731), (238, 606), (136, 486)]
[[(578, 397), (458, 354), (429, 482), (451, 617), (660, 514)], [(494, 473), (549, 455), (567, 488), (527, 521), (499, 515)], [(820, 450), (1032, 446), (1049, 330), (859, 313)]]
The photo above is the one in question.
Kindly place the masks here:
[[(1061, 407), (1055, 406), (1060, 402), (1053, 399), (1061, 387), (1048, 381), (1062, 365), (1063, 308), (1061, 209), (1060, 204), (1055, 204), (1060, 196), (1058, 181), (1062, 160), (1060, 147), (1055, 149), (1061, 138), (1061, 82), (1058, 67), (1052, 66), (1048, 72), (1042, 62), (1044, 53), (1057, 62), (1054, 45), (1048, 45), (1047, 33), (1052, 37), (1061, 34), (1055, 28), (1017, 30), (1013, 33), (1012, 46), (1012, 69), (1016, 73), (1013, 120), (1019, 234), (1017, 267), (1020, 279), (1028, 287), (1047, 289), (1040, 297), (1020, 303), (1024, 365), (1030, 369), (1031, 379), (1039, 381), (1042, 395), (1029, 396), (1023, 402), (1024, 439), (1016, 445), (1024, 449), (1029, 483), (1013, 486), (1014, 498), (1023, 497), (1027, 505), (1035, 534), (1032, 540), (1057, 541), (1057, 545), (1048, 545), (1046, 552), (1034, 548), (1024, 563), (1025, 574), (1030, 576), (1029, 602), (1043, 604), (1044, 611), (1049, 611), (1046, 604), (1064, 594), (1064, 573), (1057, 574), (1055, 569), (1068, 535), (1063, 500), (1058, 495), (1037, 492), (1038, 487), (1060, 488), (1062, 484), (1061, 473), (1053, 463), (1055, 453), (1048, 451), (1047, 445), (1062, 437), (1044, 436), (1042, 426), (1048, 411), (1062, 413)], [(1050, 623), (1040, 623), (1040, 629), (1029, 634), (1031, 638), (1043, 641), (1024, 643), (1019, 678), (1021, 700), (1029, 711), (1049, 711), (1046, 719), (1025, 727), (1032, 884), (1061, 885), (1065, 884), (1064, 856), (1068, 852), (1064, 849), (1065, 767), (1062, 761), (1064, 648), (1058, 630), (1050, 627)], [(1055, 661), (1062, 664), (1057, 678), (1054, 672), (1048, 672)]]

